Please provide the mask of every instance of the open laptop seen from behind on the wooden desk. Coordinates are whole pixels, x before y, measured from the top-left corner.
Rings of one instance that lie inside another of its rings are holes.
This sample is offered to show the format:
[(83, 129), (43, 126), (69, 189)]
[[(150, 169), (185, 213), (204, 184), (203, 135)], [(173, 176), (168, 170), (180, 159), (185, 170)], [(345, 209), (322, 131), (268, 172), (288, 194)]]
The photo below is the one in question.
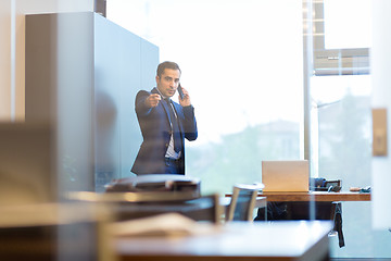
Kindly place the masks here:
[(264, 192), (307, 192), (308, 182), (307, 160), (262, 161)]

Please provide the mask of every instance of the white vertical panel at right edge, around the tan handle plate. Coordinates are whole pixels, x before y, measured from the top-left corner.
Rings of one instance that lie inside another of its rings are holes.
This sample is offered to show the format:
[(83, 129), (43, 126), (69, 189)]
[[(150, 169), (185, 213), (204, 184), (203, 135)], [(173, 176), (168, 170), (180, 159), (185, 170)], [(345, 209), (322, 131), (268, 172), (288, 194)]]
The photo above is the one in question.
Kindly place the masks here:
[(374, 228), (391, 227), (391, 1), (373, 1), (373, 108), (388, 110), (388, 151), (387, 157), (373, 158), (373, 226)]

